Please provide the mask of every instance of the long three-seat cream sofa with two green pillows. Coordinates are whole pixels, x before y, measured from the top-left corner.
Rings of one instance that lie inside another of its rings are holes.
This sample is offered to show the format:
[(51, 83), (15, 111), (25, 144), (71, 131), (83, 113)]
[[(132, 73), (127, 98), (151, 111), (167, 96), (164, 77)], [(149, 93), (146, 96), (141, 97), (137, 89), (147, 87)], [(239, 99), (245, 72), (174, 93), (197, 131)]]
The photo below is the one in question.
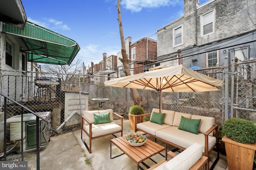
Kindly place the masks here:
[(138, 123), (136, 130), (145, 132), (181, 150), (198, 143), (202, 146), (202, 154), (206, 157), (209, 157), (210, 152), (216, 147), (217, 158), (212, 165), (214, 168), (219, 159), (218, 125), (214, 125), (214, 122), (213, 117), (169, 110), (162, 110), (159, 113), (159, 109), (154, 108), (150, 121)]

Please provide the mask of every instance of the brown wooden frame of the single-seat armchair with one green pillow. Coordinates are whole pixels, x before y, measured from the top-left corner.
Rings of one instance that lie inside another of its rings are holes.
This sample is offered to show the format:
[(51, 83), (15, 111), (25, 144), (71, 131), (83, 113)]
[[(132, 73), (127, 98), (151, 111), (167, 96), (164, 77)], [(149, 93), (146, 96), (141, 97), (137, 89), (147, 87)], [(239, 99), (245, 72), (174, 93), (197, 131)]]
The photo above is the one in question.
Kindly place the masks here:
[[(121, 121), (121, 124), (120, 124), (120, 126), (122, 127), (122, 130), (119, 130), (119, 131), (116, 131), (116, 132), (112, 132), (112, 133), (108, 133), (108, 134), (104, 134), (104, 135), (100, 135), (100, 136), (95, 136), (95, 137), (92, 137), (92, 122), (89, 120), (89, 119), (87, 119), (84, 115), (82, 115), (82, 128), (81, 128), (81, 139), (82, 139), (82, 141), (83, 141), (83, 143), (84, 143), (84, 145), (86, 146), (86, 148), (87, 148), (87, 150), (88, 150), (88, 152), (89, 153), (92, 153), (92, 140), (93, 139), (96, 139), (96, 138), (100, 138), (100, 137), (103, 137), (103, 136), (108, 136), (108, 135), (110, 135), (110, 134), (112, 134), (112, 135), (114, 135), (114, 134), (116, 134), (116, 133), (119, 133), (119, 132), (121, 132), (121, 136), (123, 136), (123, 117), (122, 116), (120, 116), (120, 115), (118, 115), (117, 113), (114, 113), (113, 112), (113, 116), (116, 116), (116, 117), (118, 117), (118, 118), (120, 118), (120, 121)], [(83, 127), (83, 125), (84, 125), (84, 121), (86, 121), (88, 124), (89, 124), (89, 130), (90, 130), (90, 132), (88, 133), (88, 132), (86, 132), (86, 130), (84, 129), (84, 127)], [(82, 133), (83, 133), (83, 131), (87, 134), (87, 136), (89, 137), (89, 141), (90, 141), (90, 143), (89, 143), (89, 147), (88, 147), (88, 145), (86, 144), (86, 142), (84, 141), (84, 139), (83, 139), (83, 136), (82, 136)], [(115, 135), (114, 135), (115, 136)], [(116, 136), (115, 136), (116, 137)]]

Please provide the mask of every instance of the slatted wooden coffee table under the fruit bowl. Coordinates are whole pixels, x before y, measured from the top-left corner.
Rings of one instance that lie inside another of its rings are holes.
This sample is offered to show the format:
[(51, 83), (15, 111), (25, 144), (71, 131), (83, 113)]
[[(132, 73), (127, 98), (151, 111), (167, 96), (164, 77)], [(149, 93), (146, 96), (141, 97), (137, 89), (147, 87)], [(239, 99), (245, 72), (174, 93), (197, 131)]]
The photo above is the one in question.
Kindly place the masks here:
[[(142, 163), (144, 166), (149, 168), (143, 161), (148, 158), (152, 160), (152, 158), (150, 158), (151, 156), (154, 156), (158, 153), (160, 154), (160, 152), (162, 152), (165, 149), (164, 146), (161, 146), (160, 144), (157, 144), (156, 142), (153, 142), (152, 140), (149, 140), (149, 139), (147, 139), (147, 141), (142, 146), (136, 146), (136, 147), (131, 146), (130, 144), (127, 143), (125, 138), (126, 136), (121, 136), (119, 138), (111, 139), (110, 158), (113, 159), (118, 156), (121, 156), (122, 154), (126, 154), (129, 158), (131, 158), (137, 164), (137, 169), (141, 168), (139, 165), (140, 163)], [(124, 153), (112, 157), (112, 143), (116, 145), (116, 147), (118, 147)], [(154, 160), (152, 161), (155, 162)]]

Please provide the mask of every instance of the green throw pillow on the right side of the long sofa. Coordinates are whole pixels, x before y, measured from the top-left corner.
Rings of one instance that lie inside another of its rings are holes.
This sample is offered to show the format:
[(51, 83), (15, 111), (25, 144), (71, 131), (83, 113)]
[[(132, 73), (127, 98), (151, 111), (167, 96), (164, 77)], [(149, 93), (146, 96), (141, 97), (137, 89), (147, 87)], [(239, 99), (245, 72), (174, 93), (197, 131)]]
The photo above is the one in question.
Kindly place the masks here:
[(180, 125), (178, 129), (198, 134), (200, 121), (201, 119), (188, 119), (186, 117), (181, 116)]

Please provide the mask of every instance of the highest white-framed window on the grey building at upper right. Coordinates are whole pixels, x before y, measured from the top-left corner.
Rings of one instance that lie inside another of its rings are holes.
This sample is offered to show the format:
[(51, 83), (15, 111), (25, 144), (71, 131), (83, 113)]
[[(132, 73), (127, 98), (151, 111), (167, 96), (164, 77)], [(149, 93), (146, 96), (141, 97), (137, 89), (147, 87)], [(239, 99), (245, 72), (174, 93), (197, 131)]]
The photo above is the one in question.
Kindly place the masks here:
[(201, 35), (214, 33), (214, 11), (201, 16)]

